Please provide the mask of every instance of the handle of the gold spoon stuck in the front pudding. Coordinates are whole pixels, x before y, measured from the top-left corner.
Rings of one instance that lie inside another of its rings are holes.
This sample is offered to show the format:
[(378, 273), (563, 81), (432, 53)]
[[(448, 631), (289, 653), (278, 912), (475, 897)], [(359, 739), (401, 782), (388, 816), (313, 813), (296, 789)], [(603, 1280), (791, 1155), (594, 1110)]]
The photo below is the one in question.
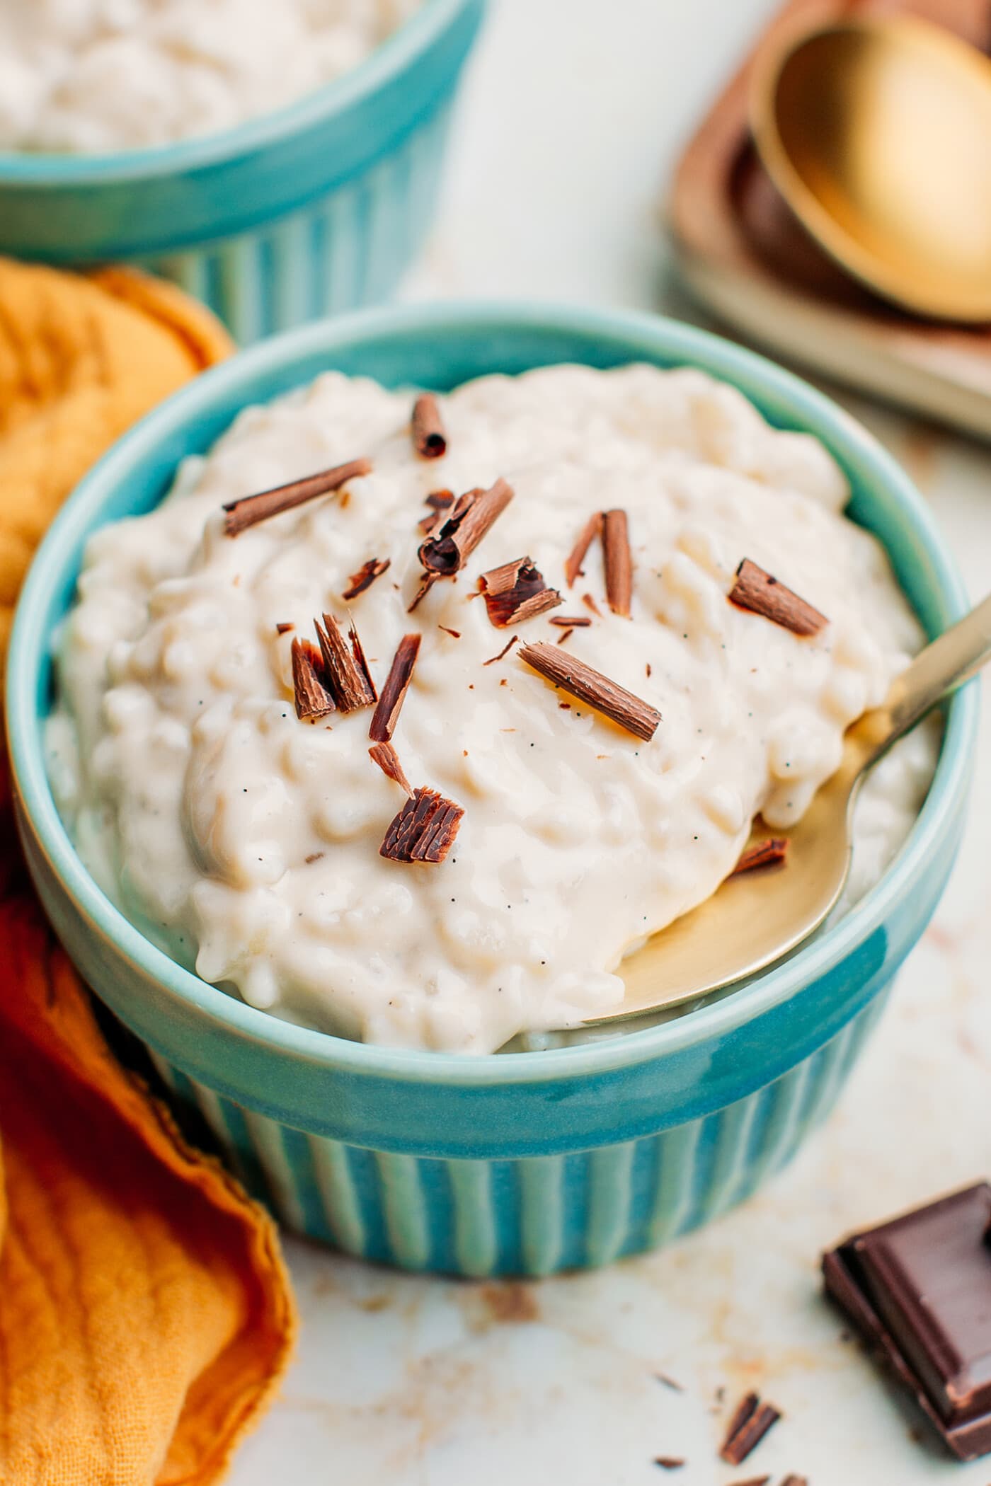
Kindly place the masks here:
[(871, 744), (865, 765), (874, 764), (893, 743), (908, 733), (927, 712), (957, 687), (970, 681), (991, 660), (991, 594), (920, 651), (900, 676), (887, 700), (863, 721)]

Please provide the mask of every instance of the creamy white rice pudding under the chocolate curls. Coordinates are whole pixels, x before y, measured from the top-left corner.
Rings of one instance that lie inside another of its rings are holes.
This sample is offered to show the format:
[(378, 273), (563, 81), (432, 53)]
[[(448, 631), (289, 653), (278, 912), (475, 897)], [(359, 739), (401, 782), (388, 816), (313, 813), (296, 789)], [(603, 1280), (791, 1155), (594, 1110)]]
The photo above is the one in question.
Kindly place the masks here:
[[(826, 450), (701, 373), (484, 377), (440, 400), (438, 459), (413, 449), (412, 404), (321, 376), (247, 409), (156, 511), (91, 539), (51, 776), (101, 887), (205, 979), (321, 1030), (489, 1052), (618, 1005), (624, 950), (718, 887), (758, 813), (801, 817), (921, 632)], [(226, 533), (224, 504), (361, 458), (370, 474)], [(409, 612), (425, 496), (499, 478), (513, 499)], [(630, 617), (609, 609), (599, 542), (566, 581), (602, 510), (627, 517)], [(496, 629), (478, 577), (523, 556), (562, 603)], [(732, 605), (744, 557), (828, 624), (799, 636)], [(345, 603), (373, 559), (388, 569)], [(440, 863), (380, 856), (406, 796), (368, 758), (371, 709), (297, 718), (291, 646), (322, 614), (354, 621), (379, 691), (420, 635), (392, 743), (415, 788), (464, 808)], [(568, 633), (571, 615), (591, 623)], [(559, 654), (660, 712), (649, 740), (519, 658), (563, 635)], [(875, 771), (853, 892), (905, 838), (933, 762), (920, 731)]]

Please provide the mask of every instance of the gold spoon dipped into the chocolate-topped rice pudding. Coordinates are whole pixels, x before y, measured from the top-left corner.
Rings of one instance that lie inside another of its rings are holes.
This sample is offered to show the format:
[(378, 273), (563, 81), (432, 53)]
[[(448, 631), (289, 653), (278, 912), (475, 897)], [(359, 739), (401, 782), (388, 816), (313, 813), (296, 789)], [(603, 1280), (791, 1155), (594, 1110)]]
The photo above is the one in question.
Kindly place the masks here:
[[(621, 1009), (588, 1016), (584, 1025), (709, 996), (782, 960), (819, 929), (850, 872), (853, 814), (868, 771), (988, 660), (991, 596), (927, 645), (894, 679), (884, 704), (850, 728), (839, 768), (789, 832), (786, 865), (728, 877), (704, 903), (655, 933), (618, 966), (626, 982)], [(776, 874), (773, 883), (768, 872)]]

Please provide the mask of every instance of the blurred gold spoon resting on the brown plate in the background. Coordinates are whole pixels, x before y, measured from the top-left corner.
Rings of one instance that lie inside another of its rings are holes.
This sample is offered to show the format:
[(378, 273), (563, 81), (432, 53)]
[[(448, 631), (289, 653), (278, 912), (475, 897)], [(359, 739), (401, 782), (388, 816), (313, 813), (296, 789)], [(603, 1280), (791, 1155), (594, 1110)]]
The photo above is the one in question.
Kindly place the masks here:
[(927, 21), (842, 21), (758, 68), (750, 126), (848, 273), (920, 315), (991, 319), (991, 59)]

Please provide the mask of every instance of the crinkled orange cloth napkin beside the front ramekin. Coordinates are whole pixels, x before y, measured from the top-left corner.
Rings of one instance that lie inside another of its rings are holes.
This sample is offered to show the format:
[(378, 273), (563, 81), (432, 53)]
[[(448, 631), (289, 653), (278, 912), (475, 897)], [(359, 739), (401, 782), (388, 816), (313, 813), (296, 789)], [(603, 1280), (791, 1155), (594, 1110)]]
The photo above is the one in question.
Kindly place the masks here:
[[(230, 342), (178, 290), (0, 259), (0, 655), (100, 453)], [(22, 874), (0, 759), (0, 1482), (207, 1486), (285, 1367), (275, 1227), (113, 1058)]]

